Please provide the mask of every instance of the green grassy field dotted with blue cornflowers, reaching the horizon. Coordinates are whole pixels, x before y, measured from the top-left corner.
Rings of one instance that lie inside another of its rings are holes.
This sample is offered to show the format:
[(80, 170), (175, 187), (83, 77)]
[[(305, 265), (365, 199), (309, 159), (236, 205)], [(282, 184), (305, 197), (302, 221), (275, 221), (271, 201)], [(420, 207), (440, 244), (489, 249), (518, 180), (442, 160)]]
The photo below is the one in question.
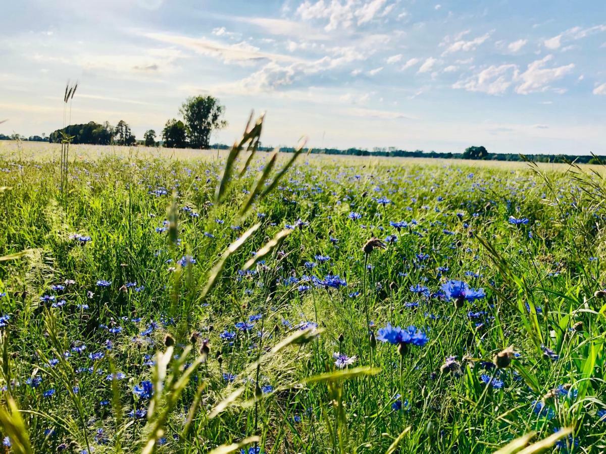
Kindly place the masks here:
[(8, 451), (606, 449), (599, 173), (52, 150), (0, 156)]

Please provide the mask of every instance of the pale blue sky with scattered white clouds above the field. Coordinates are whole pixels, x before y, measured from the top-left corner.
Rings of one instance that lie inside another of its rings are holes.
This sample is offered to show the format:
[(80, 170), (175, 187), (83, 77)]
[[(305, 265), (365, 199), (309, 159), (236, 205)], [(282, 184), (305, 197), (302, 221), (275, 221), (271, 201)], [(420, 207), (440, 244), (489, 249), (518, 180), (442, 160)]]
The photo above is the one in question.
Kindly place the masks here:
[(232, 143), (606, 154), (604, 0), (19, 0), (0, 15), (0, 133), (125, 120), (211, 94)]

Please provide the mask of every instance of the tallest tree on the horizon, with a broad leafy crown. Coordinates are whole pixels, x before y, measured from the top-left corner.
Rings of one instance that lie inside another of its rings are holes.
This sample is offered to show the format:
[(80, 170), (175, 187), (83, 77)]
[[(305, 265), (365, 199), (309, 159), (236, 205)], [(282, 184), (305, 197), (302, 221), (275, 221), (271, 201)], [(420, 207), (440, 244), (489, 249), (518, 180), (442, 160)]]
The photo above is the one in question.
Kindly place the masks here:
[(193, 96), (185, 100), (179, 112), (185, 120), (191, 148), (208, 148), (213, 130), (227, 126), (221, 119), (224, 111), (225, 107), (213, 96)]

